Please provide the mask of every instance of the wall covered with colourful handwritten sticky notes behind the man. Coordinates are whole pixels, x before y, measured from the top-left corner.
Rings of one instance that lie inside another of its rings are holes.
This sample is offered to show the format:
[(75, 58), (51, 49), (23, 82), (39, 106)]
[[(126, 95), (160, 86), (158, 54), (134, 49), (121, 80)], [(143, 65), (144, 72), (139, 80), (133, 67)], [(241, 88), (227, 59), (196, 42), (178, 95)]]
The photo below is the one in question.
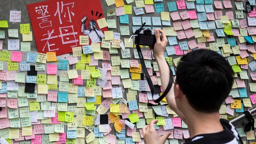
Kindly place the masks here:
[[(2, 3), (1, 143), (143, 143), (141, 129), (152, 119), (158, 119), (159, 135), (172, 132), (166, 143), (189, 138), (186, 124), (165, 101), (152, 102), (160, 93), (150, 95), (141, 75), (128, 39), (143, 22), (167, 34), (165, 57), (174, 72), (192, 50), (211, 49), (227, 58), (236, 76), (220, 118), (255, 106), (255, 1), (101, 0), (104, 18), (95, 21), (97, 28), (108, 28), (102, 43), (79, 33), (82, 46), (57, 57), (54, 51), (37, 52), (26, 8), (35, 2)], [(153, 84), (161, 86), (152, 51), (142, 50)], [(240, 122), (235, 127), (243, 141), (255, 142), (254, 131), (244, 132)]]

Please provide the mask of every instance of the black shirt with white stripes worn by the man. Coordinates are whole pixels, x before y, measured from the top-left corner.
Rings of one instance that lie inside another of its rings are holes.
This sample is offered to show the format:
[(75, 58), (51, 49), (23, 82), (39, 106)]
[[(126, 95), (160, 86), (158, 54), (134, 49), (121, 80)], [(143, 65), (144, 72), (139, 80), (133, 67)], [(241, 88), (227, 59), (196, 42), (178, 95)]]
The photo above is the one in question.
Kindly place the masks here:
[(238, 135), (235, 127), (227, 120), (220, 119), (224, 130), (212, 134), (201, 134), (189, 138), (185, 144), (207, 143), (207, 144), (242, 144), (242, 139)]

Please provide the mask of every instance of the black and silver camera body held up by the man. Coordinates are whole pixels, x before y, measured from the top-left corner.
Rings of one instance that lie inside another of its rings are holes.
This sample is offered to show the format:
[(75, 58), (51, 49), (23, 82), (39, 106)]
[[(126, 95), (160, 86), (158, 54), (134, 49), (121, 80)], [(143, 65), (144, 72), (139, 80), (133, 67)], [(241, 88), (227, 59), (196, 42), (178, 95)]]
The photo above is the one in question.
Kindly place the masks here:
[(136, 45), (154, 46), (156, 43), (155, 31), (148, 28), (143, 28), (140, 33), (135, 36), (134, 43)]

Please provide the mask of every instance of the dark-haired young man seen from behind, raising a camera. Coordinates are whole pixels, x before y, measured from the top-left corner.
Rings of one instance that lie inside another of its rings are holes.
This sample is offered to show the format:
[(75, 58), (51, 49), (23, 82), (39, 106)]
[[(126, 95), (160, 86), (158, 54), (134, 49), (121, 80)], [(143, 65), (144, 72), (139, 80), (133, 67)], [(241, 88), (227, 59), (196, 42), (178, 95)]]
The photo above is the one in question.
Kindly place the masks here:
[[(169, 67), (164, 58), (168, 42), (163, 30), (155, 29), (153, 56), (161, 76), (163, 90), (169, 82)], [(160, 33), (162, 39), (160, 39)], [(195, 50), (184, 55), (176, 67), (174, 84), (166, 95), (168, 105), (188, 125), (188, 143), (242, 143), (234, 126), (219, 119), (218, 111), (228, 97), (233, 84), (233, 70), (220, 54), (211, 50)], [(158, 136), (153, 120), (143, 127), (144, 142), (164, 143), (170, 133)]]

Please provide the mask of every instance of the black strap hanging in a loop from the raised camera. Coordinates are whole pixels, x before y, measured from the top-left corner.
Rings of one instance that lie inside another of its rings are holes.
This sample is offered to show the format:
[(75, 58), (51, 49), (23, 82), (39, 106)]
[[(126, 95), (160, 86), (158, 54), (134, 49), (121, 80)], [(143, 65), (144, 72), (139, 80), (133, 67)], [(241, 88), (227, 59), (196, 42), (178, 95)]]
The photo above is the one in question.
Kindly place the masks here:
[[(140, 48), (139, 45), (136, 45), (136, 49), (137, 49), (137, 52), (138, 52), (138, 55), (139, 55), (139, 58), (140, 58), (142, 70), (143, 70), (143, 72), (144, 72), (144, 74), (145, 74), (145, 77), (146, 77), (147, 82), (148, 82), (148, 86), (149, 86), (149, 88), (150, 88), (150, 90), (151, 90), (151, 94), (152, 94), (152, 97), (153, 97), (153, 95), (154, 95), (154, 93), (155, 93), (155, 89), (154, 89), (154, 85), (153, 85), (153, 83), (152, 83), (152, 81), (151, 81), (151, 78), (150, 78), (150, 76), (149, 76), (149, 74), (148, 74), (148, 71), (147, 71), (147, 68), (146, 68), (146, 65), (145, 65), (145, 61), (144, 61), (144, 58), (143, 58), (143, 56), (142, 56), (141, 48)], [(167, 61), (166, 61), (166, 62), (167, 62)], [(159, 102), (168, 94), (168, 92), (169, 92), (170, 89), (172, 88), (172, 84), (173, 84), (173, 79), (172, 79), (173, 72), (172, 72), (172, 70), (171, 70), (171, 68), (170, 68), (170, 66), (169, 66), (169, 64), (168, 64), (168, 62), (167, 62), (167, 65), (168, 65), (169, 70), (170, 70), (170, 79), (169, 79), (169, 83), (168, 83), (168, 85), (167, 85), (167, 87), (166, 87), (166, 90), (163, 92), (163, 94), (162, 94), (158, 99), (156, 99), (156, 100), (153, 99), (155, 103), (159, 103)]]

